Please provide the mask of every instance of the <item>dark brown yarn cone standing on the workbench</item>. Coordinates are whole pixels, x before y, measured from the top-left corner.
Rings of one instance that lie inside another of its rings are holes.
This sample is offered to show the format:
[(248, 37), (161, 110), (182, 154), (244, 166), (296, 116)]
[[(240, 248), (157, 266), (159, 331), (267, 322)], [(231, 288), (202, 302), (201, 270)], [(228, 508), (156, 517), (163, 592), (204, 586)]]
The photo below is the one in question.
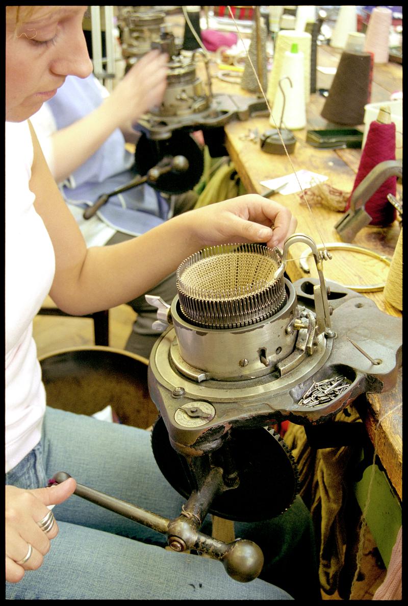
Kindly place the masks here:
[(342, 53), (321, 110), (324, 119), (347, 126), (363, 124), (370, 90), (370, 63), (370, 53)]

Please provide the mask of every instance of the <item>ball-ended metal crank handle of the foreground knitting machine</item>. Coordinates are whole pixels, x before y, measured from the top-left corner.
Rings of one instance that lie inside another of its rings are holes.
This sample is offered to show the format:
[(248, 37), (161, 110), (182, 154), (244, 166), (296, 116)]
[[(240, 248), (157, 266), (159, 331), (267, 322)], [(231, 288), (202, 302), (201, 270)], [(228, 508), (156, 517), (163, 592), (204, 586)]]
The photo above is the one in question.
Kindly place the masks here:
[[(218, 470), (218, 468), (216, 469)], [(53, 482), (61, 484), (61, 482), (64, 482), (68, 478), (71, 478), (70, 474), (65, 471), (58, 471), (53, 476)], [(208, 479), (209, 482), (205, 489), (205, 496), (213, 493), (213, 490), (216, 490), (216, 487), (219, 485), (219, 478), (214, 476), (214, 474)], [(260, 550), (258, 545), (252, 543), (252, 541), (236, 539), (231, 543), (225, 543), (197, 530), (197, 524), (201, 524), (197, 518), (197, 513), (200, 514), (199, 518), (201, 518), (201, 515), (205, 513), (209, 506), (209, 503), (205, 505), (201, 502), (199, 499), (200, 493), (192, 493), (188, 503), (183, 507), (182, 514), (174, 520), (163, 518), (163, 516), (159, 516), (156, 513), (136, 507), (136, 505), (132, 505), (126, 501), (120, 501), (120, 499), (82, 484), (76, 485), (74, 494), (96, 505), (100, 505), (100, 507), (114, 511), (114, 513), (119, 513), (134, 522), (152, 528), (159, 533), (167, 534), (169, 547), (174, 551), (181, 552), (194, 549), (208, 554), (211, 558), (219, 559), (223, 563), (228, 575), (235, 579), (235, 581), (252, 581), (257, 578), (262, 570), (262, 550)], [(189, 504), (191, 504), (193, 511), (189, 511)], [(194, 513), (194, 511), (197, 513)]]

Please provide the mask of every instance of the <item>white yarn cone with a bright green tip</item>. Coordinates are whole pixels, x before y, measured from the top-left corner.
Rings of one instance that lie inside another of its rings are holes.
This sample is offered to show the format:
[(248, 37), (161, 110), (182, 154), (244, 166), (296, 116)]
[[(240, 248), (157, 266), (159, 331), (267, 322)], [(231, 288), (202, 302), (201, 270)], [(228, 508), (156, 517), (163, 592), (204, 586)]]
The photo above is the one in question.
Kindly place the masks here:
[[(304, 101), (304, 55), (302, 52), (285, 53), (281, 68), (280, 86), (275, 93), (272, 116), (269, 122), (274, 128), (282, 127), (298, 130), (306, 126), (306, 103)], [(288, 80), (290, 78), (290, 81)], [(292, 85), (291, 85), (292, 83)], [(285, 99), (283, 93), (285, 93)], [(285, 108), (283, 107), (285, 101)]]

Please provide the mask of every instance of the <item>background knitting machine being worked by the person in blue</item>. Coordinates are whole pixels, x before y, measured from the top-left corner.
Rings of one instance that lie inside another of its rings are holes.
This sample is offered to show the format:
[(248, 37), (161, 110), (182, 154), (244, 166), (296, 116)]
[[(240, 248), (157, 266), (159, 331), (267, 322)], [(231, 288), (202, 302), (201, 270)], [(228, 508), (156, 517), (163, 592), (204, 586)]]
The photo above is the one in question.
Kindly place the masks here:
[[(156, 164), (165, 155), (182, 153), (196, 173), (194, 178), (198, 176), (195, 185), (203, 171), (203, 151), (191, 133), (202, 131), (212, 158), (228, 155), (224, 147), (225, 124), (267, 112), (266, 102), (212, 93), (207, 53), (202, 48), (194, 52), (180, 50), (173, 33), (165, 27), (151, 42), (151, 48), (159, 48), (169, 56), (167, 87), (162, 104), (141, 116), (136, 126), (142, 133), (136, 148), (136, 167), (140, 174), (145, 174), (150, 168), (146, 162)], [(200, 63), (204, 66), (204, 78), (197, 73)], [(192, 181), (194, 178), (191, 176)]]

